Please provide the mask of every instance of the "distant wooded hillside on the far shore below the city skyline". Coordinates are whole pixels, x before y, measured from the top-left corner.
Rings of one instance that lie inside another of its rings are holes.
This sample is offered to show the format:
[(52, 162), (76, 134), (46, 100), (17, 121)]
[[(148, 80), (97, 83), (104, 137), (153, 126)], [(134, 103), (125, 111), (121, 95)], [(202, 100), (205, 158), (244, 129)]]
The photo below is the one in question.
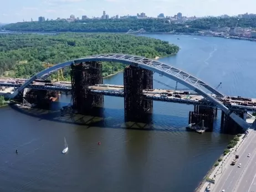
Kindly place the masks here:
[(20, 22), (7, 24), (2, 29), (19, 32), (127, 32), (129, 29), (144, 28), (147, 33), (193, 33), (209, 29), (213, 25), (220, 27), (252, 27), (256, 28), (256, 18), (202, 18), (185, 23), (168, 23), (166, 19), (107, 19), (107, 20), (48, 20), (45, 22)]

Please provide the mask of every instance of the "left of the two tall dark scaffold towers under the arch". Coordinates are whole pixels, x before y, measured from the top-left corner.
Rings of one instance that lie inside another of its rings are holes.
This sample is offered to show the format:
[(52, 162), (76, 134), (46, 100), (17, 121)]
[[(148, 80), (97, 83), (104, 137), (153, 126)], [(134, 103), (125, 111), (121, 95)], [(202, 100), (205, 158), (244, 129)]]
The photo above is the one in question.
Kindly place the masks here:
[(94, 106), (103, 103), (103, 95), (91, 95), (89, 86), (103, 84), (101, 63), (86, 62), (71, 65), (71, 87), (73, 107), (85, 115)]

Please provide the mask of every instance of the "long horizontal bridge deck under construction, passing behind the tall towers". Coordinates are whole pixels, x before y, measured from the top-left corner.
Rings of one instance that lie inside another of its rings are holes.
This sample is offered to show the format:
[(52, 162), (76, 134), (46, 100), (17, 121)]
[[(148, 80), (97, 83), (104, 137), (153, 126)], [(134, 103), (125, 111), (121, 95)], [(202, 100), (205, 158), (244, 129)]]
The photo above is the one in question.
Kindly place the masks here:
[[(9, 79), (0, 79), (0, 87), (19, 87), (22, 84), (21, 81), (24, 80), (19, 80), (17, 83)], [(28, 85), (28, 88), (41, 90), (71, 91), (71, 82), (59, 81), (48, 84), (45, 82), (34, 82), (33, 84)], [(124, 86), (122, 85), (95, 85), (89, 86), (89, 89), (94, 94), (124, 97)], [(3, 92), (4, 91), (2, 91), (2, 94)], [(143, 92), (146, 98), (155, 101), (177, 102), (187, 105), (214, 106), (212, 102), (207, 101), (203, 96), (192, 92), (188, 94), (188, 92), (186, 91), (184, 92), (163, 89), (144, 90)], [(211, 96), (215, 97), (214, 95)], [(256, 98), (248, 98), (249, 101), (243, 101), (239, 100), (239, 98), (237, 97), (222, 97), (218, 98), (218, 100), (222, 101), (224, 105), (226, 105), (231, 110), (256, 111)]]

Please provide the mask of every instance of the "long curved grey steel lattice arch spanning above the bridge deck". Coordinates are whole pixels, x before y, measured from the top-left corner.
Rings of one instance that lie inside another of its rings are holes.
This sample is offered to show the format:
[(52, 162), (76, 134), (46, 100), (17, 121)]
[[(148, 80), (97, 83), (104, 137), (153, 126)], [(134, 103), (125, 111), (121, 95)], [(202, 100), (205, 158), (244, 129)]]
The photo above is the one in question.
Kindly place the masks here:
[(216, 107), (221, 109), (224, 113), (226, 113), (228, 116), (230, 116), (235, 122), (237, 122), (241, 127), (244, 129), (247, 129), (248, 123), (246, 123), (242, 118), (238, 117), (235, 113), (232, 113), (226, 106), (223, 105), (222, 102), (218, 101), (216, 98), (210, 96), (207, 94), (206, 91), (210, 91), (216, 96), (223, 97), (224, 95), (219, 92), (218, 90), (214, 89), (213, 87), (206, 84), (206, 82), (203, 82), (202, 80), (198, 79), (197, 77), (188, 74), (188, 72), (185, 72), (183, 70), (177, 69), (173, 66), (161, 63), (160, 61), (147, 59), (142, 56), (135, 56), (135, 55), (125, 55), (125, 54), (100, 54), (100, 55), (93, 55), (88, 56), (86, 58), (80, 58), (76, 60), (66, 61), (64, 63), (60, 63), (57, 65), (52, 66), (51, 68), (45, 69), (41, 72), (38, 72), (38, 74), (32, 76), (29, 80), (25, 81), (24, 84), (22, 84), (21, 87), (19, 87), (16, 91), (13, 92), (11, 95), (11, 98), (14, 98), (17, 96), (17, 94), (25, 89), (30, 83), (32, 83), (34, 80), (39, 78), (45, 78), (52, 74), (54, 71), (57, 71), (59, 69), (63, 69), (67, 66), (70, 66), (72, 64), (78, 64), (82, 62), (89, 62), (89, 61), (111, 61), (111, 62), (117, 62), (122, 63), (126, 65), (133, 65), (139, 68), (151, 70), (153, 72), (156, 72), (162, 76), (166, 76), (174, 81), (177, 81), (178, 83), (188, 87), (189, 89), (197, 92), (198, 94), (202, 95), (204, 98), (206, 98), (208, 101), (211, 101), (214, 103)]

